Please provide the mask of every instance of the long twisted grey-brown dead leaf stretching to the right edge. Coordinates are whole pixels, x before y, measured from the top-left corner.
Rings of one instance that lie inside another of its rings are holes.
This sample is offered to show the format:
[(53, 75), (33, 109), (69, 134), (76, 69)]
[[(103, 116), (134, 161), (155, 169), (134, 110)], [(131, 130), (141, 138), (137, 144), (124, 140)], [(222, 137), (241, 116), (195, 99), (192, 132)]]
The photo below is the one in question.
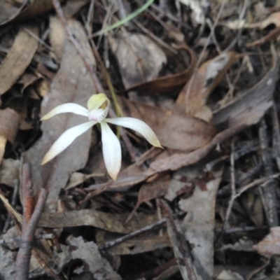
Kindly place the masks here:
[[(279, 57), (275, 51), (272, 51), (272, 55), (273, 66), (265, 77), (214, 115), (216, 125), (223, 125), (223, 127), (228, 127), (227, 129), (216, 134), (209, 144), (196, 151), (188, 154), (175, 154), (169, 158), (152, 162), (151, 171), (163, 172), (192, 165), (204, 158), (217, 144), (241, 132), (246, 127), (258, 123), (267, 109), (272, 106), (272, 94), (278, 80)], [(151, 174), (152, 172), (147, 170), (146, 173)]]

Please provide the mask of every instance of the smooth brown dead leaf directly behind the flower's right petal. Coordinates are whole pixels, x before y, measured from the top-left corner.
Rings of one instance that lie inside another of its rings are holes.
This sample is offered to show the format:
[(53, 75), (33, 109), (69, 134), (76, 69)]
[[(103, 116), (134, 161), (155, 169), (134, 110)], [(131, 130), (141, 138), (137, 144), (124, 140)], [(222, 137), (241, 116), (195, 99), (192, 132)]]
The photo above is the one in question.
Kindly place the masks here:
[(202, 120), (173, 114), (158, 107), (119, 99), (127, 116), (139, 118), (150, 125), (162, 146), (193, 151), (208, 144), (216, 132), (213, 125)]

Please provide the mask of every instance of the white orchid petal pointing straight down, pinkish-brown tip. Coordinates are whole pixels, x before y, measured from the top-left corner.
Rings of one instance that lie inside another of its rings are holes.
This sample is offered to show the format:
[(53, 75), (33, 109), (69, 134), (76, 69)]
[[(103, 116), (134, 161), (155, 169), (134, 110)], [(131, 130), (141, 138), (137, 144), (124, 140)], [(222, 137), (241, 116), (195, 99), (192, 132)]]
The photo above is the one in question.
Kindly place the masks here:
[(120, 141), (109, 125), (105, 122), (100, 123), (100, 125), (102, 129), (102, 146), (105, 166), (111, 178), (116, 181), (122, 161)]

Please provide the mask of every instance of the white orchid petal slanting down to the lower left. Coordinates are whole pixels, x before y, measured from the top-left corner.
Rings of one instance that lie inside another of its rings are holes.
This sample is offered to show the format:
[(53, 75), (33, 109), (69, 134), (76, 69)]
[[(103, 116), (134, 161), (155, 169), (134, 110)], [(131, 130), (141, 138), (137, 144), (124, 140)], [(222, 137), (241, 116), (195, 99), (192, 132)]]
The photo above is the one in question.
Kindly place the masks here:
[(41, 165), (55, 158), (59, 153), (64, 151), (80, 134), (86, 132), (90, 127), (95, 125), (97, 122), (90, 121), (76, 125), (75, 127), (69, 128), (66, 132), (62, 133), (55, 143), (50, 147), (48, 153), (45, 154)]

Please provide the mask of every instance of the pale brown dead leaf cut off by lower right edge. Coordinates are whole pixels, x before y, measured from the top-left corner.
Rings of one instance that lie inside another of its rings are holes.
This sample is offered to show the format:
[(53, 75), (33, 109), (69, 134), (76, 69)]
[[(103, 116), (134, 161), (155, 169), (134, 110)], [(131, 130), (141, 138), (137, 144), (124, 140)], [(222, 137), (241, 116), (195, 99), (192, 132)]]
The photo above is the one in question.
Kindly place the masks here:
[(258, 251), (260, 255), (265, 255), (267, 258), (272, 257), (272, 255), (279, 255), (280, 227), (270, 228), (269, 235), (254, 245), (253, 249)]

